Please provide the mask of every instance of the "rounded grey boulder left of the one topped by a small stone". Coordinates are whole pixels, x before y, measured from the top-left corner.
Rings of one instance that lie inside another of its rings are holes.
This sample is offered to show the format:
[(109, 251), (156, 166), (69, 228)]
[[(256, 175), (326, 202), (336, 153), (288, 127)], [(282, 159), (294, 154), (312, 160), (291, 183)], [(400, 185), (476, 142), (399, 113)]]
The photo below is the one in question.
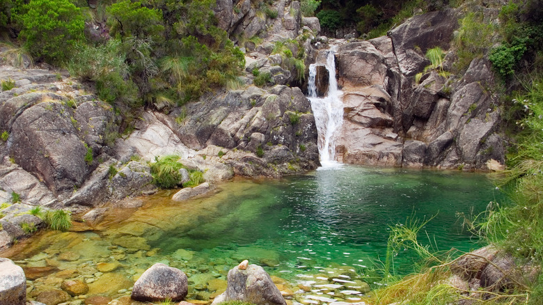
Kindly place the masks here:
[(187, 276), (179, 269), (157, 263), (147, 269), (132, 290), (132, 299), (141, 302), (181, 301), (188, 292)]

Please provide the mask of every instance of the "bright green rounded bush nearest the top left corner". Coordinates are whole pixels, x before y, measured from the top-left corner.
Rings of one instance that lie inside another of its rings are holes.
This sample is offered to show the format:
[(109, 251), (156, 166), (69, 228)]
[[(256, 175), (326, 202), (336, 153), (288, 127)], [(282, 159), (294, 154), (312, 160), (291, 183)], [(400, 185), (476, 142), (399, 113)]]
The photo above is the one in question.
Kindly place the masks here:
[(31, 54), (61, 63), (84, 40), (84, 17), (69, 0), (31, 0), (25, 8), (19, 38)]

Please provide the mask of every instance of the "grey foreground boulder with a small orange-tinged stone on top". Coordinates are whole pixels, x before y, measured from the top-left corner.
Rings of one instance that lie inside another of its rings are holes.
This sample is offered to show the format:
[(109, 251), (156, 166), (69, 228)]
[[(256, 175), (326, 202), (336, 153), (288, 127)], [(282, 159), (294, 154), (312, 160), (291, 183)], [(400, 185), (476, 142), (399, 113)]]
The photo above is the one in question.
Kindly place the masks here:
[(262, 267), (249, 265), (247, 269), (234, 267), (228, 272), (226, 291), (214, 299), (212, 305), (225, 301), (251, 302), (257, 305), (286, 305), (281, 292)]

